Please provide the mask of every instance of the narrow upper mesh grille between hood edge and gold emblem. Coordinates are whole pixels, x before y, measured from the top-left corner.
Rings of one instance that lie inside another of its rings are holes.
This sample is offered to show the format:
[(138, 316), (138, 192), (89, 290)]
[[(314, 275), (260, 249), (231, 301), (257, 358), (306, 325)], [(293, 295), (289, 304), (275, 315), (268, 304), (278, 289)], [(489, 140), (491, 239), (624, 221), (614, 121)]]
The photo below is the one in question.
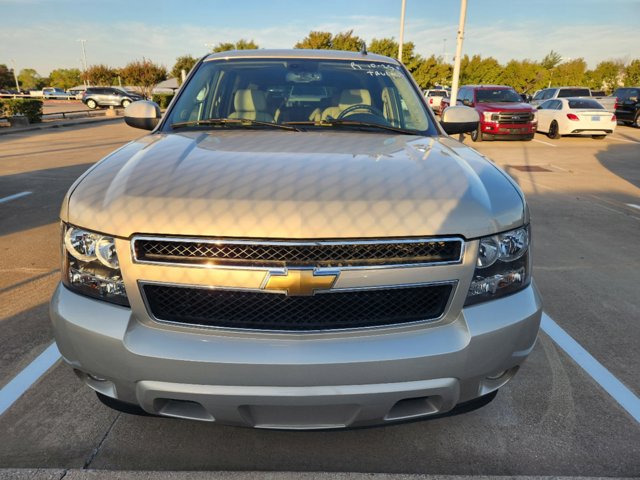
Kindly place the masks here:
[(261, 241), (135, 237), (134, 261), (245, 268), (369, 267), (451, 264), (462, 260), (460, 238)]

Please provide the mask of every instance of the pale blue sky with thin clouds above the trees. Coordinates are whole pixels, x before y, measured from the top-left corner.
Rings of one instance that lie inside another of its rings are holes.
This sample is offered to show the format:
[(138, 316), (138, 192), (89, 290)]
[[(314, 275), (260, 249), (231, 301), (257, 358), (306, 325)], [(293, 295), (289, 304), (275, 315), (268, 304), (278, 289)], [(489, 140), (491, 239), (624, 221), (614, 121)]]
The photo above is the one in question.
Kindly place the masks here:
[[(171, 68), (207, 45), (254, 40), (292, 48), (312, 30), (353, 30), (366, 41), (400, 34), (401, 0), (0, 0), (0, 64), (122, 67), (150, 59)], [(460, 2), (407, 0), (405, 41), (423, 56), (454, 56)], [(541, 60), (554, 50), (589, 68), (640, 58), (640, 0), (468, 0), (463, 54)], [(632, 47), (634, 45), (635, 47)]]

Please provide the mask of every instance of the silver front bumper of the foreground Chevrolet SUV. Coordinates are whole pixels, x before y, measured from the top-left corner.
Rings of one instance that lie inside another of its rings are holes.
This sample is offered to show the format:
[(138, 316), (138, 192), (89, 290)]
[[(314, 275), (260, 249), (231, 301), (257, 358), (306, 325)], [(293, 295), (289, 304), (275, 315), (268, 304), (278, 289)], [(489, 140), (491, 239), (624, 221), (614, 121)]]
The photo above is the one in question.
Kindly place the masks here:
[(407, 420), (486, 395), (532, 350), (541, 311), (532, 283), (441, 325), (247, 335), (140, 322), (62, 285), (51, 301), (58, 348), (94, 390), (159, 415), (300, 429)]

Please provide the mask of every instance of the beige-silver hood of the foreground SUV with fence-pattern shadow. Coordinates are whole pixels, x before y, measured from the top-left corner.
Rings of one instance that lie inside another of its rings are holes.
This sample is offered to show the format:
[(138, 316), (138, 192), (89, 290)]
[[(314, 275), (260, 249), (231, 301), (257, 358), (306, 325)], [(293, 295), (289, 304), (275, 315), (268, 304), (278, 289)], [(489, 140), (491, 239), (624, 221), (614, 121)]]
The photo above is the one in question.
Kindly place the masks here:
[(504, 172), (448, 137), (151, 134), (90, 169), (63, 220), (119, 237), (479, 237), (522, 225)]

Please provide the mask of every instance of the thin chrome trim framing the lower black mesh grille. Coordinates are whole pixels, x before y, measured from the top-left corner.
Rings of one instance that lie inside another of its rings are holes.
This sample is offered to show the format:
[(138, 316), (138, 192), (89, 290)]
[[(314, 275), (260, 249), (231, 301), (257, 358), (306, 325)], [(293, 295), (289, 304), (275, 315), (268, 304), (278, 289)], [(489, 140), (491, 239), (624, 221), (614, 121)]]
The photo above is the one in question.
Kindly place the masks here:
[(171, 325), (178, 327), (186, 327), (186, 328), (202, 328), (206, 330), (218, 330), (225, 332), (239, 332), (239, 333), (260, 333), (260, 334), (282, 334), (282, 333), (291, 333), (295, 335), (304, 335), (304, 334), (322, 334), (322, 333), (335, 333), (335, 332), (358, 332), (363, 330), (381, 330), (381, 329), (389, 329), (389, 328), (401, 328), (411, 325), (419, 325), (419, 324), (432, 324), (439, 322), (442, 320), (447, 313), (449, 313), (449, 309), (451, 308), (451, 302), (456, 296), (458, 290), (458, 280), (447, 280), (442, 282), (424, 282), (424, 283), (406, 283), (406, 284), (398, 284), (398, 285), (378, 285), (373, 287), (355, 287), (355, 288), (344, 288), (344, 289), (332, 289), (326, 290), (322, 292), (318, 292), (317, 294), (330, 294), (331, 292), (349, 292), (349, 291), (361, 291), (361, 290), (391, 290), (398, 288), (412, 288), (412, 287), (435, 287), (439, 285), (451, 285), (451, 293), (449, 294), (449, 298), (447, 299), (447, 303), (442, 310), (442, 314), (439, 317), (431, 318), (428, 320), (417, 320), (415, 322), (405, 322), (405, 323), (393, 323), (390, 325), (373, 325), (370, 327), (354, 327), (354, 328), (326, 328), (323, 330), (260, 330), (255, 328), (231, 328), (231, 327), (216, 327), (212, 325), (200, 325), (197, 323), (183, 323), (183, 322), (172, 322), (170, 320), (161, 320), (157, 318), (151, 312), (151, 306), (149, 305), (149, 301), (147, 300), (147, 296), (144, 293), (145, 285), (158, 285), (162, 287), (175, 287), (175, 288), (200, 288), (202, 290), (224, 290), (224, 291), (240, 291), (240, 292), (253, 292), (253, 293), (267, 293), (267, 294), (275, 294), (282, 295), (280, 292), (269, 292), (268, 290), (260, 290), (255, 288), (229, 288), (229, 287), (217, 287), (212, 285), (192, 285), (192, 284), (178, 284), (178, 283), (165, 283), (165, 282), (156, 282), (149, 280), (138, 280), (138, 290), (140, 292), (140, 296), (142, 297), (142, 301), (144, 302), (144, 306), (147, 310), (147, 315), (149, 318), (163, 325)]

